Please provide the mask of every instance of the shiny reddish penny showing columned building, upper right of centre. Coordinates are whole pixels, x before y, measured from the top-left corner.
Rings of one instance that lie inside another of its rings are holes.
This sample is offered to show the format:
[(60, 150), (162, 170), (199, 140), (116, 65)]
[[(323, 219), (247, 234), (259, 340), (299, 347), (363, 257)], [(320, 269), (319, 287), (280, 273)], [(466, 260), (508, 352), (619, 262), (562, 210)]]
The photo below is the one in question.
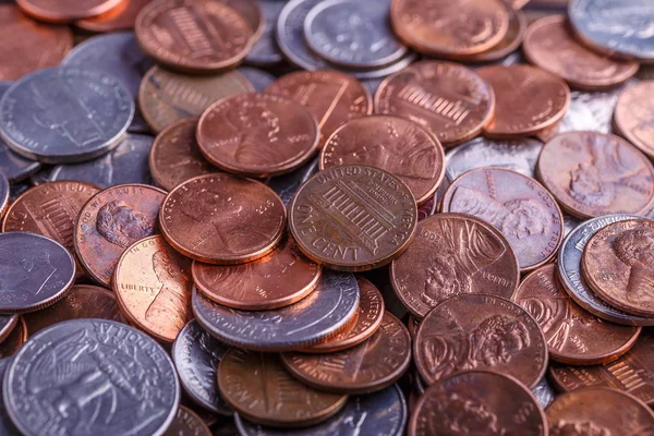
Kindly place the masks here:
[(407, 118), (444, 146), (479, 135), (495, 108), (493, 89), (474, 71), (451, 62), (423, 61), (387, 77), (375, 93), (375, 111)]

